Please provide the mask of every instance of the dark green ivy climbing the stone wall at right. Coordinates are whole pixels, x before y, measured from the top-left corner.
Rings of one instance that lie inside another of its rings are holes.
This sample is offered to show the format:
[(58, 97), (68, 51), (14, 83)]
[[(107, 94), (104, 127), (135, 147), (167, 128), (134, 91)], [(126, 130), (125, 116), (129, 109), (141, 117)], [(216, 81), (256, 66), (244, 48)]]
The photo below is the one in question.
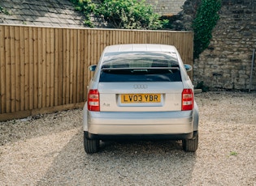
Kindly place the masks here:
[(221, 0), (202, 0), (193, 21), (194, 58), (198, 58), (210, 44), (211, 32), (219, 20)]

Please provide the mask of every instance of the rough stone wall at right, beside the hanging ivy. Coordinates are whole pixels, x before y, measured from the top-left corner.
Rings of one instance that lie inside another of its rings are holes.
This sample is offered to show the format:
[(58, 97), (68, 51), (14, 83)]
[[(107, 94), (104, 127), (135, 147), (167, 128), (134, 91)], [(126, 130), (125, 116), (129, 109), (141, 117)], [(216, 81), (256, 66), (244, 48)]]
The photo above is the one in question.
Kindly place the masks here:
[[(256, 0), (223, 0), (210, 46), (194, 61), (193, 80), (210, 90), (248, 90), (256, 49)], [(251, 90), (256, 90), (256, 61)]]

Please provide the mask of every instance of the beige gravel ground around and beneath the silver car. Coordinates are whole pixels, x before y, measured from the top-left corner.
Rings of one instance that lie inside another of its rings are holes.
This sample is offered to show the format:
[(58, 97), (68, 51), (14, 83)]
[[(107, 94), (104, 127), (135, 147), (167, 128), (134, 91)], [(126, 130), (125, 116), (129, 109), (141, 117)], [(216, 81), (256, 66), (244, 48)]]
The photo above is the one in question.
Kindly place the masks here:
[(0, 185), (256, 185), (256, 93), (196, 95), (199, 148), (105, 142), (85, 154), (80, 109), (0, 122)]

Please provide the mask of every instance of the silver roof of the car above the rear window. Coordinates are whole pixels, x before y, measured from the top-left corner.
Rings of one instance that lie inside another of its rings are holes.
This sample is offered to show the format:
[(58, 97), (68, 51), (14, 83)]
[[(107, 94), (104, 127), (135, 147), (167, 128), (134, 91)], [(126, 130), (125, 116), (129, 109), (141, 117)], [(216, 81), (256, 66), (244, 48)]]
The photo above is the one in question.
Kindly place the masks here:
[(105, 53), (128, 51), (154, 51), (176, 53), (176, 48), (167, 44), (117, 44), (106, 47)]

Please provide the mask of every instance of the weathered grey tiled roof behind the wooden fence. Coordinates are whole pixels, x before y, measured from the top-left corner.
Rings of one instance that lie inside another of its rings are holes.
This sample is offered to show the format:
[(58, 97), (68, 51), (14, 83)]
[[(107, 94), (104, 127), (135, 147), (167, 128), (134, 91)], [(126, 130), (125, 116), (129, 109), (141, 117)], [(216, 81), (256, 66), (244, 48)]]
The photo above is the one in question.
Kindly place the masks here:
[(85, 27), (85, 16), (68, 0), (1, 0), (0, 23)]

